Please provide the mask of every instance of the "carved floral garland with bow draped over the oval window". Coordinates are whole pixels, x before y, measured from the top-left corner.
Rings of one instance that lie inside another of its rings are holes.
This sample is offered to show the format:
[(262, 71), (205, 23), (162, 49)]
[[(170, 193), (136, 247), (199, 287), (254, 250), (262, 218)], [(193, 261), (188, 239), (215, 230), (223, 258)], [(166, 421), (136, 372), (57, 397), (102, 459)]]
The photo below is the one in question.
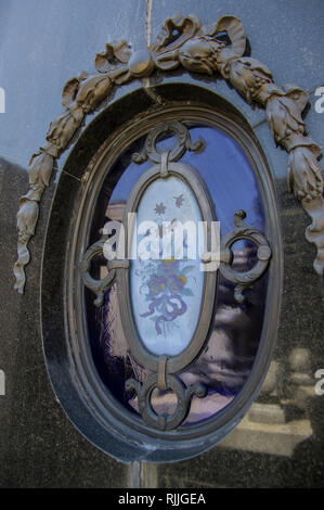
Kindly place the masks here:
[[(174, 31), (178, 35), (176, 40)], [(223, 31), (226, 31), (231, 43), (217, 38)], [(304, 136), (301, 113), (308, 94), (295, 85), (275, 85), (264, 64), (243, 56), (245, 47), (243, 25), (234, 16), (222, 16), (211, 25), (202, 26), (195, 15), (177, 14), (165, 21), (147, 50), (132, 53), (125, 40), (108, 43), (105, 52), (95, 56), (98, 74), (81, 73), (67, 81), (62, 94), (65, 112), (50, 124), (47, 142), (31, 156), (28, 169), (30, 188), (22, 196), (17, 213), (18, 257), (14, 276), (15, 289), (21, 294), (25, 286), (25, 266), (29, 262), (27, 245), (35, 233), (39, 202), (49, 186), (54, 160), (66, 150), (86, 115), (107, 98), (115, 85), (148, 77), (155, 69), (167, 72), (180, 66), (209, 76), (218, 73), (248, 103), (257, 102), (265, 109), (275, 143), (288, 153), (288, 188), (312, 219), (306, 238), (317, 248), (313, 266), (319, 275), (323, 275), (323, 177), (317, 162), (322, 151)]]

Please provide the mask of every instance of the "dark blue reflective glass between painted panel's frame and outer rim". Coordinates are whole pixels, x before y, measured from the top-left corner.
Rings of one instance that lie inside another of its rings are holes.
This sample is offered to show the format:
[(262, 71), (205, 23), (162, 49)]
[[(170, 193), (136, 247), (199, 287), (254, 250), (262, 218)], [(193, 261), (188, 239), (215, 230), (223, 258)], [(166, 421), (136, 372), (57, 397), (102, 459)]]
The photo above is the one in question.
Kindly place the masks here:
[[(234, 213), (244, 209), (246, 221), (264, 232), (265, 218), (261, 194), (254, 171), (241, 146), (226, 133), (206, 126), (191, 128), (193, 141), (203, 138), (206, 149), (199, 154), (187, 152), (182, 162), (194, 166), (205, 180), (221, 226), (221, 234), (234, 228)], [(137, 141), (116, 162), (102, 188), (91, 229), (91, 242), (108, 218), (121, 219), (129, 192), (152, 164), (131, 163), (131, 154), (143, 146)], [(171, 137), (158, 141), (157, 149), (170, 149)], [(257, 248), (246, 240), (232, 247), (233, 265), (237, 270), (250, 269), (256, 263)], [(98, 264), (96, 273), (101, 271)], [(193, 398), (184, 425), (206, 420), (229, 405), (248, 379), (258, 349), (267, 294), (267, 276), (245, 292), (246, 301), (234, 301), (234, 285), (219, 277), (216, 309), (210, 337), (205, 350), (180, 377), (185, 384), (203, 382), (208, 395)], [(137, 412), (137, 397), (125, 391), (125, 381), (135, 378), (143, 382), (146, 370), (129, 355), (120, 322), (116, 284), (106, 293), (105, 305), (95, 309), (93, 295), (87, 290), (89, 337), (99, 373), (112, 394), (129, 410)], [(158, 412), (171, 413), (174, 396), (155, 391), (153, 405)]]

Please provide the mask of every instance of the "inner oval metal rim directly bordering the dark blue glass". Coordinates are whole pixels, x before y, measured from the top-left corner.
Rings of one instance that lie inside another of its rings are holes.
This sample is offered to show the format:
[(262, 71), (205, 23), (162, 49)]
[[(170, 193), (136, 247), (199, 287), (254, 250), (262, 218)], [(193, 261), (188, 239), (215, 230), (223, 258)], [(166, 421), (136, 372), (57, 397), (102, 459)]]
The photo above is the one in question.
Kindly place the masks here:
[[(210, 93), (208, 95), (215, 95), (215, 93)], [(269, 269), (271, 278), (265, 305), (270, 306), (271, 314), (268, 313), (264, 317), (262, 335), (260, 339), (261, 348), (258, 350), (250, 378), (247, 380), (241, 393), (221, 413), (209, 418), (205, 423), (191, 424), (183, 428), (180, 434), (178, 431), (160, 432), (146, 426), (140, 417), (130, 415), (126, 411), (124, 406), (111, 395), (104, 383), (101, 381), (92, 360), (90, 345), (86, 333), (87, 324), (85, 316), (83, 285), (80, 276), (78, 275), (76, 278), (76, 265), (89, 245), (93, 204), (96, 202), (102, 183), (107, 174), (107, 168), (112, 167), (124, 148), (129, 146), (139, 137), (150, 132), (157, 122), (174, 118), (189, 124), (203, 124), (219, 128), (232, 137), (244, 150), (245, 155), (255, 171), (262, 201), (265, 205), (268, 219), (265, 234), (267, 238), (271, 240), (271, 244), (273, 246), (272, 259), (274, 260), (272, 268)], [(115, 428), (119, 431), (122, 423), (122, 430), (126, 437), (128, 437), (131, 431), (133, 431), (133, 439), (135, 441), (139, 441), (138, 433), (141, 433), (150, 436), (153, 441), (154, 438), (161, 441), (167, 434), (167, 441), (174, 442), (180, 441), (181, 438), (181, 442), (192, 442), (196, 438), (198, 443), (200, 443), (202, 436), (205, 436), (206, 439), (206, 435), (215, 434), (220, 428), (225, 425), (228, 425), (226, 433), (229, 433), (244, 416), (244, 408), (248, 401), (248, 395), (251, 397), (251, 395), (257, 391), (258, 386), (256, 386), (255, 381), (258, 380), (260, 385), (267, 373), (277, 326), (275, 317), (277, 317), (278, 314), (280, 288), (282, 281), (280, 222), (276, 206), (273, 206), (273, 204), (276, 204), (274, 187), (271, 184), (270, 170), (267, 166), (265, 158), (262, 155), (262, 149), (256, 143), (251, 136), (248, 135), (247, 128), (242, 126), (239, 117), (236, 117), (236, 122), (235, 118), (230, 120), (229, 116), (221, 112), (216, 113), (210, 111), (210, 109), (204, 109), (202, 105), (193, 106), (182, 103), (181, 105), (164, 107), (163, 111), (153, 111), (146, 114), (145, 119), (142, 117), (141, 124), (131, 120), (127, 127), (124, 126), (120, 128), (120, 131), (117, 130), (114, 136), (106, 141), (90, 166), (91, 171), (82, 192), (81, 203), (79, 204), (75, 222), (75, 235), (70, 251), (69, 275), (66, 281), (66, 289), (69, 309), (68, 317), (70, 321), (69, 331), (72, 332), (72, 340), (75, 344), (73, 352), (79, 353), (77, 370), (81, 370), (82, 385), (86, 384), (87, 395), (95, 394), (95, 399), (91, 399), (94, 404), (95, 413), (99, 412), (101, 421), (104, 420), (111, 423), (115, 422)], [(272, 206), (270, 206), (270, 204), (272, 204)], [(79, 232), (78, 228), (80, 228)], [(76, 232), (78, 232), (78, 234), (76, 234)], [(78, 242), (76, 243), (76, 241)], [(74, 292), (72, 292), (73, 289)], [(264, 342), (264, 336), (268, 337), (268, 342)], [(269, 339), (271, 339), (271, 341)]]

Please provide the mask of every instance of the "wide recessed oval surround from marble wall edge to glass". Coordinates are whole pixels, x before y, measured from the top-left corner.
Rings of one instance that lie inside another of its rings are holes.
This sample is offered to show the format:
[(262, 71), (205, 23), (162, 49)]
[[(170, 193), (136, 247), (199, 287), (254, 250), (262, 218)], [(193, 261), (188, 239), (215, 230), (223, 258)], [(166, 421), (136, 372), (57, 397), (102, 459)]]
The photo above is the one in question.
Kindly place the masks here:
[[(55, 214), (49, 219), (42, 262), (42, 339), (53, 391), (73, 424), (88, 441), (126, 462), (139, 459), (147, 462), (184, 460), (206, 451), (237, 425), (267, 374), (276, 340), (283, 281), (283, 247), (274, 182), (250, 125), (229, 100), (196, 84), (164, 84), (156, 90), (165, 98), (164, 106), (155, 105), (147, 110), (146, 95), (139, 88), (99, 114), (73, 148), (64, 168), (67, 174), (70, 167), (76, 168), (80, 184), (72, 190), (69, 184), (77, 181), (62, 173), (52, 206)], [(190, 97), (196, 98), (196, 103), (189, 102)], [(128, 117), (120, 117), (122, 104), (126, 109), (133, 105)], [(273, 253), (265, 303), (268, 311), (259, 349), (250, 377), (241, 393), (222, 412), (203, 423), (193, 423), (180, 431), (161, 432), (152, 430), (140, 417), (127, 411), (101, 380), (91, 355), (83, 284), (76, 268), (89, 245), (93, 204), (109, 167), (126, 146), (146, 135), (157, 122), (166, 119), (221, 129), (241, 145), (258, 181), (265, 207), (264, 233)], [(104, 142), (103, 137), (100, 139), (96, 136), (99, 128), (105, 133)], [(80, 160), (79, 150), (88, 146), (89, 140), (91, 153)], [(269, 140), (272, 140), (270, 135)], [(60, 207), (62, 196), (66, 197), (67, 193), (72, 207), (69, 215), (66, 208)], [(57, 231), (64, 234), (64, 253), (56, 242)], [(60, 293), (52, 285), (53, 264), (57, 275), (61, 275)]]

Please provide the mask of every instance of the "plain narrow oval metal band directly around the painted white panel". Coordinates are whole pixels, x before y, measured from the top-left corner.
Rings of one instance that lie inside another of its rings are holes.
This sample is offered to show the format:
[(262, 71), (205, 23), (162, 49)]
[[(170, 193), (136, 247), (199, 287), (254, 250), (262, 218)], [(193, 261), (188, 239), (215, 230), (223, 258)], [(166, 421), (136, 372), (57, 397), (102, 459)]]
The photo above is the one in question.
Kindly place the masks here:
[[(181, 179), (192, 190), (198, 203), (203, 221), (206, 221), (207, 225), (210, 226), (211, 221), (217, 220), (207, 187), (193, 166), (184, 163), (169, 163), (168, 176), (174, 176)], [(128, 214), (137, 212), (145, 190), (159, 178), (161, 178), (160, 165), (154, 165), (138, 179), (132, 188), (126, 204), (122, 220), (126, 230), (126, 245), (129, 244), (129, 232), (127, 232), (126, 229)], [(209, 235), (207, 233), (207, 240), (208, 238)], [(204, 272), (204, 288), (198, 323), (189, 346), (177, 356), (168, 356), (168, 373), (177, 373), (187, 367), (198, 356), (207, 340), (216, 301), (218, 271)], [(150, 350), (145, 348), (133, 320), (130, 299), (130, 275), (127, 269), (117, 269), (117, 292), (119, 296), (121, 323), (132, 355), (140, 365), (152, 372), (158, 372), (159, 356), (150, 353)], [(213, 299), (211, 296), (213, 296)]]

